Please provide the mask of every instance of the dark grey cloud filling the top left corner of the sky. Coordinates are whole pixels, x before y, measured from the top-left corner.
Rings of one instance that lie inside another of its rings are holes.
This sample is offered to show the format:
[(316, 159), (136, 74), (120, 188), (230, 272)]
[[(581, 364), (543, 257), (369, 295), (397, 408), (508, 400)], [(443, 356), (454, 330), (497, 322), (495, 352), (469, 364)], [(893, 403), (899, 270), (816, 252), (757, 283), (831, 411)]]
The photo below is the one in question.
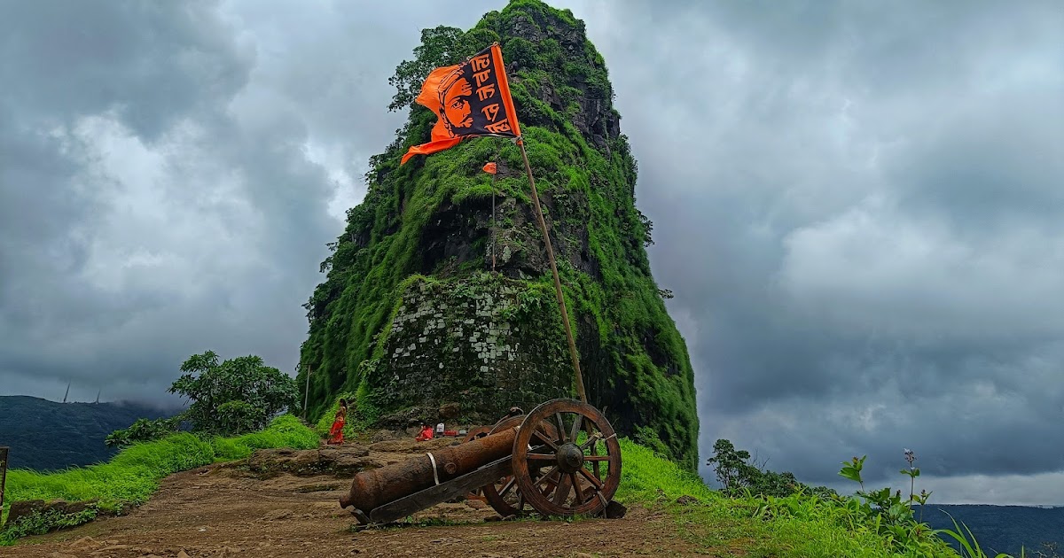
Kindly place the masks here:
[(77, 117), (115, 107), (151, 139), (244, 85), (251, 60), (215, 2), (7, 2), (4, 100), (21, 115)]

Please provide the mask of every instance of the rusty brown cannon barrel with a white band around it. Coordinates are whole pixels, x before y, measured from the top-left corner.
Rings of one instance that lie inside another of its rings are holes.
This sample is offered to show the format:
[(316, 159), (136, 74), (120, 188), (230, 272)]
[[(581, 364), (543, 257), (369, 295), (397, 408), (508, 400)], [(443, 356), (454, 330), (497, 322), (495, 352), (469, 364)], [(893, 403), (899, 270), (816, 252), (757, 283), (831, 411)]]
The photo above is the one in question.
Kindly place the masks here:
[[(398, 463), (362, 471), (351, 490), (340, 496), (342, 508), (354, 506), (363, 512), (502, 459), (514, 451), (517, 428), (505, 428), (483, 438), (451, 445)], [(431, 457), (430, 457), (431, 456)]]

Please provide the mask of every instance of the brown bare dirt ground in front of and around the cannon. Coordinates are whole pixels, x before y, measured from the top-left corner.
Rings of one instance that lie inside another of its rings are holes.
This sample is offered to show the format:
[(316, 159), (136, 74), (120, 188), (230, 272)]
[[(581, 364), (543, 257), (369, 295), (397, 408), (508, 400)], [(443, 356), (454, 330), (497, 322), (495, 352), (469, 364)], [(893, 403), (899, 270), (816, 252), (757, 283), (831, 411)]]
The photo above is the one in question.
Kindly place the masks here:
[[(303, 557), (694, 556), (671, 519), (630, 506), (618, 520), (494, 521), (480, 502), (440, 504), (414, 517), (447, 524), (360, 532), (340, 509), (350, 475), (260, 479), (246, 469), (210, 466), (171, 475), (144, 506), (24, 539), (0, 556), (18, 557)], [(422, 522), (423, 523), (423, 522)]]

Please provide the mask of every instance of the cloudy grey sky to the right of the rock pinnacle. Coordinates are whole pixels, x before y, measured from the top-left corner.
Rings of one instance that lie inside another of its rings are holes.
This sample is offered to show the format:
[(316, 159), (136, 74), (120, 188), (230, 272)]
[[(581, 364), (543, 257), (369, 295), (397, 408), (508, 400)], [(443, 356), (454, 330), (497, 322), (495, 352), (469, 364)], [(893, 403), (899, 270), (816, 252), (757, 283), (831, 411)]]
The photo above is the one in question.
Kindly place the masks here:
[(588, 29), (693, 345), (703, 458), (729, 438), (836, 485), (869, 454), (896, 484), (912, 447), (940, 497), (1064, 503), (1064, 11), (606, 10)]

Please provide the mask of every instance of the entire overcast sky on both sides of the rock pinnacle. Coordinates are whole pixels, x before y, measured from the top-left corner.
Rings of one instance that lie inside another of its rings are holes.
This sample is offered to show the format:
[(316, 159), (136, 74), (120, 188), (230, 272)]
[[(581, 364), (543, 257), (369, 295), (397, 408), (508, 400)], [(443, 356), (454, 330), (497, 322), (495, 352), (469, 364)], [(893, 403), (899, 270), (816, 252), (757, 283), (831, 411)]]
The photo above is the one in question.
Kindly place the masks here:
[[(1064, 5), (555, 0), (639, 163), (717, 438), (1064, 505)], [(420, 30), (504, 1), (0, 1), (0, 394), (294, 372)], [(408, 11), (410, 11), (408, 13)]]

